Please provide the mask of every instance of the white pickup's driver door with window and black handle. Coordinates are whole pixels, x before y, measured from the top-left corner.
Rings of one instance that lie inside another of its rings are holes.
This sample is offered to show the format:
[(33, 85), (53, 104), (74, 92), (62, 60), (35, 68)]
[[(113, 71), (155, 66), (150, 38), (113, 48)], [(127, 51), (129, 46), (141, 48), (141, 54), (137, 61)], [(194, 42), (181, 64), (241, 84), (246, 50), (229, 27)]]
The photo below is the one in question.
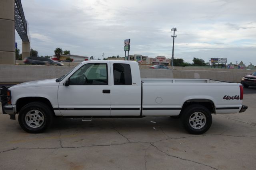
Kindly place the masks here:
[(109, 61), (87, 63), (60, 84), (58, 104), (64, 116), (110, 116), (111, 83)]

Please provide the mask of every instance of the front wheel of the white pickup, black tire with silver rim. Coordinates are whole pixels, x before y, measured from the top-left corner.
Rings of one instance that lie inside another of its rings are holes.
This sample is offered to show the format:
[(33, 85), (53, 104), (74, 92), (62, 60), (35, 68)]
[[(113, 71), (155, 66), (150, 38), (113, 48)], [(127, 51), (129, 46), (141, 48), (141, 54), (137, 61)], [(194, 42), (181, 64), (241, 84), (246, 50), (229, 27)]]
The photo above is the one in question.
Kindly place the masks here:
[[(54, 113), (46, 104), (42, 102), (31, 102), (22, 107), (18, 115), (18, 120), (20, 127), (24, 131), (28, 133), (42, 133), (52, 125), (53, 115)], [(33, 122), (37, 123), (37, 125)]]

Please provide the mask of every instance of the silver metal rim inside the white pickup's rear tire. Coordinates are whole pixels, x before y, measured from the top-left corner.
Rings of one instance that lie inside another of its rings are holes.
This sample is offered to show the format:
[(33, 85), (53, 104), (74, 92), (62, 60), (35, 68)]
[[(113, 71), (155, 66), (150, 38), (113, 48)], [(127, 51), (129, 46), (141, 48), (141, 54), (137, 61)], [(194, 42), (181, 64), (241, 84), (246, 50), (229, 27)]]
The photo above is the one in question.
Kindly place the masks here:
[(206, 117), (202, 112), (194, 112), (189, 117), (189, 125), (194, 129), (201, 129), (206, 124)]

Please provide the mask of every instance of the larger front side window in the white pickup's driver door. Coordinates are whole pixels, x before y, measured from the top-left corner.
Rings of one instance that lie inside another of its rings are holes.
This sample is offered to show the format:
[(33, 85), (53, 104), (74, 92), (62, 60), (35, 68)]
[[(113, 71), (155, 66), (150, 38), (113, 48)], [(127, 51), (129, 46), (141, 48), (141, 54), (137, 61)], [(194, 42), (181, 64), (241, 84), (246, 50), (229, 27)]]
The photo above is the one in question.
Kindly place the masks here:
[(107, 64), (84, 64), (70, 76), (69, 85), (108, 85)]

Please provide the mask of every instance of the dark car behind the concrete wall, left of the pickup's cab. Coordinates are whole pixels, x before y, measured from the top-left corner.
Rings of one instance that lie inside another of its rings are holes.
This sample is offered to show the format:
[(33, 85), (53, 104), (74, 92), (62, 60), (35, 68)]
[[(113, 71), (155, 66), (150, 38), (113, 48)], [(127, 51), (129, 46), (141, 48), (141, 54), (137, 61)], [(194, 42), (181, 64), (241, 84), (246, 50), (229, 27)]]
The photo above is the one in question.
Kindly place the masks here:
[(64, 65), (63, 63), (59, 63), (57, 61), (53, 61), (51, 59), (48, 59), (46, 57), (27, 57), (23, 60), (25, 64), (38, 64), (38, 65), (57, 65), (57, 66), (62, 66)]

